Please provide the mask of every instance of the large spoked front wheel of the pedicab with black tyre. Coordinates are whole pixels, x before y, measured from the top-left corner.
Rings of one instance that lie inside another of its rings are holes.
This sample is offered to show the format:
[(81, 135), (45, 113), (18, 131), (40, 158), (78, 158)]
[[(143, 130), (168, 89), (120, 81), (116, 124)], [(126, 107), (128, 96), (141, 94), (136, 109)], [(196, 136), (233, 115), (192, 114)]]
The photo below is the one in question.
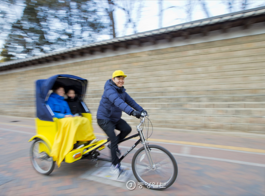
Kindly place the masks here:
[(132, 171), (141, 185), (156, 190), (166, 189), (177, 178), (177, 162), (173, 155), (159, 145), (148, 145), (155, 168), (150, 167), (144, 147), (133, 156)]

